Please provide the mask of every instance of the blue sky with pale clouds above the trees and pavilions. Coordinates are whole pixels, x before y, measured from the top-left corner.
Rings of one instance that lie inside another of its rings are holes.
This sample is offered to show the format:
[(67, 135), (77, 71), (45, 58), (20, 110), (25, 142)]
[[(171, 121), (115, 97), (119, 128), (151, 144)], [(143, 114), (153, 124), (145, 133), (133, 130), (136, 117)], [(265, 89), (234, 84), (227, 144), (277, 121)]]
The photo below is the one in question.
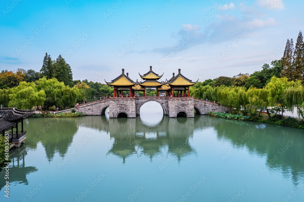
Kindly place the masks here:
[(303, 1), (0, 1), (0, 70), (39, 71), (60, 54), (74, 80), (192, 81), (253, 73), (281, 59), (304, 26)]

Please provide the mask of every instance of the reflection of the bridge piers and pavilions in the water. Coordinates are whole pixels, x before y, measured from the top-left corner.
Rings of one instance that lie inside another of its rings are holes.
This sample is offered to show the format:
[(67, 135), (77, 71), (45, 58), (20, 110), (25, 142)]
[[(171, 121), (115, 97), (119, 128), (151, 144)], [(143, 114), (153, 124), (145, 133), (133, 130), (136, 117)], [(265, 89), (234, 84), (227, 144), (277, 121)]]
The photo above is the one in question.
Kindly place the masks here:
[(192, 137), (194, 120), (185, 117), (170, 119), (163, 116), (161, 123), (154, 128), (143, 125), (140, 117), (136, 119), (109, 119), (110, 136), (114, 143), (109, 153), (123, 159), (132, 155), (144, 155), (151, 160), (161, 153), (177, 157), (195, 154), (189, 144)]

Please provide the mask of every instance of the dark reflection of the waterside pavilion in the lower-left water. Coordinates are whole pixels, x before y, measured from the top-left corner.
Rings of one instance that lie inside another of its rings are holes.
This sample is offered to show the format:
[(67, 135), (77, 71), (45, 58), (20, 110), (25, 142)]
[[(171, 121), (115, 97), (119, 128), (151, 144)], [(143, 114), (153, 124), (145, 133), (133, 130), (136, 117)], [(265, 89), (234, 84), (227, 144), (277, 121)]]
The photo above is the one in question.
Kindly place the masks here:
[[(27, 155), (26, 146), (20, 146), (19, 148), (14, 149), (14, 151), (10, 154), (10, 158), (12, 159), (12, 163), (9, 165), (9, 181), (10, 183), (24, 183), (28, 185), (28, 181), (26, 179), (26, 175), (29, 173), (36, 172), (36, 167), (33, 166), (25, 166), (24, 157)], [(0, 173), (0, 191), (1, 188), (5, 185), (5, 169)]]

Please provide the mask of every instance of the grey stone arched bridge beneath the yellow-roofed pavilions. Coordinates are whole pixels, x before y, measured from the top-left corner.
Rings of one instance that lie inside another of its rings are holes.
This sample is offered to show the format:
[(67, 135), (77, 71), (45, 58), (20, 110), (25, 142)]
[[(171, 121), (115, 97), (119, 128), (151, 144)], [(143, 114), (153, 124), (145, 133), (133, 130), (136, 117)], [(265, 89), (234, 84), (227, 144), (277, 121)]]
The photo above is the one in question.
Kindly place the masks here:
[[(85, 115), (103, 115), (105, 114), (105, 109), (109, 107), (110, 118), (117, 118), (122, 114), (128, 118), (135, 118), (136, 115), (139, 115), (141, 106), (150, 101), (159, 103), (163, 108), (164, 115), (169, 117), (177, 117), (178, 115), (194, 117), (194, 110), (197, 114), (206, 114), (208, 111), (225, 112), (229, 109), (216, 103), (193, 97), (161, 96), (108, 98), (86, 103), (74, 109), (76, 112), (82, 112)], [(71, 112), (71, 109), (61, 112)]]

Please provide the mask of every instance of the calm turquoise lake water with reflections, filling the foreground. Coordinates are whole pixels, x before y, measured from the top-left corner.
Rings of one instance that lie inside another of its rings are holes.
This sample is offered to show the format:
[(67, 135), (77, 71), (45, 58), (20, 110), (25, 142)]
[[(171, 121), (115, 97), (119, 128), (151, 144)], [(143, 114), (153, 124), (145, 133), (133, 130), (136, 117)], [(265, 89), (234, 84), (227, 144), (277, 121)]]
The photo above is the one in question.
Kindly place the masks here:
[(24, 127), (0, 201), (304, 201), (304, 130), (152, 107)]

